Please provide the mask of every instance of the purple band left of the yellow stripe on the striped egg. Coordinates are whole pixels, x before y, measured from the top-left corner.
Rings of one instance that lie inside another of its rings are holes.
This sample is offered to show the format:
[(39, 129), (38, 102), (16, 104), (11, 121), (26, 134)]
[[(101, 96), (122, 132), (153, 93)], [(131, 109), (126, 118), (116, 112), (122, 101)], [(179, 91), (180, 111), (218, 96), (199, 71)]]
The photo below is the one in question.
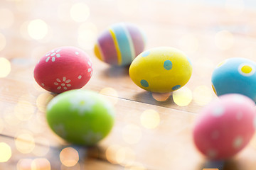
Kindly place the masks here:
[(108, 30), (105, 30), (98, 38), (98, 47), (102, 52), (102, 60), (109, 64), (117, 65), (117, 50), (114, 40)]

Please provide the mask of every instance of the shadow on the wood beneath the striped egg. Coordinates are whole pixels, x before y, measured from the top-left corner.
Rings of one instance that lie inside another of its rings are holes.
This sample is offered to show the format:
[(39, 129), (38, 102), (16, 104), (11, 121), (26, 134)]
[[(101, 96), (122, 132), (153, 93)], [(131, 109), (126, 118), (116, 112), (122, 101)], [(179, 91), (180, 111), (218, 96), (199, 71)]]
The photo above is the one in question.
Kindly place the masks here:
[(110, 66), (102, 72), (104, 77), (129, 77), (129, 66)]

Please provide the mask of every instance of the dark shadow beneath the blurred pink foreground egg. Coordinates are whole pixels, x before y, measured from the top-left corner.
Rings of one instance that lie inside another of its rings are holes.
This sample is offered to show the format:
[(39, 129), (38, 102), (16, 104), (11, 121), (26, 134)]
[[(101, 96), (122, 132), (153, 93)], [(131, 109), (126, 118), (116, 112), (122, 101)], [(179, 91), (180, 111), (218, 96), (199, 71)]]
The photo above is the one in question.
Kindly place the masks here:
[(202, 169), (218, 169), (218, 170), (242, 170), (238, 168), (238, 162), (235, 162), (233, 159), (228, 159), (228, 160), (222, 160), (222, 161), (210, 161), (207, 160), (201, 165), (201, 168), (198, 170)]

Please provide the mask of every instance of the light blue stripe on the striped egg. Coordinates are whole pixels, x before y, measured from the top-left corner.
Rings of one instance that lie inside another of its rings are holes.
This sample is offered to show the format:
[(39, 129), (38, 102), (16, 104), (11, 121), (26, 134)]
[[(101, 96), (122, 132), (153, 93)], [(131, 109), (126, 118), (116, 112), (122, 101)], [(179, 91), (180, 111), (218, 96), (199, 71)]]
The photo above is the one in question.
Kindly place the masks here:
[(119, 50), (122, 57), (122, 65), (127, 65), (132, 62), (132, 53), (130, 50), (131, 47), (129, 45), (127, 34), (125, 33), (124, 27), (122, 25), (123, 24), (114, 25), (112, 26), (112, 30), (117, 38)]

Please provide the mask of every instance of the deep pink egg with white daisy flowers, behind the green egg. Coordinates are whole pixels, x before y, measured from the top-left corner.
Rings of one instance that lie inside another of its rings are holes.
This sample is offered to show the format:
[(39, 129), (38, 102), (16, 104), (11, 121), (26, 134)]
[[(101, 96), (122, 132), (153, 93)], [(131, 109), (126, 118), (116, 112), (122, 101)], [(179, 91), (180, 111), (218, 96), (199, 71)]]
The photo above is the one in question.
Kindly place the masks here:
[(41, 57), (34, 69), (36, 82), (56, 94), (85, 86), (92, 77), (89, 55), (77, 47), (58, 47)]

